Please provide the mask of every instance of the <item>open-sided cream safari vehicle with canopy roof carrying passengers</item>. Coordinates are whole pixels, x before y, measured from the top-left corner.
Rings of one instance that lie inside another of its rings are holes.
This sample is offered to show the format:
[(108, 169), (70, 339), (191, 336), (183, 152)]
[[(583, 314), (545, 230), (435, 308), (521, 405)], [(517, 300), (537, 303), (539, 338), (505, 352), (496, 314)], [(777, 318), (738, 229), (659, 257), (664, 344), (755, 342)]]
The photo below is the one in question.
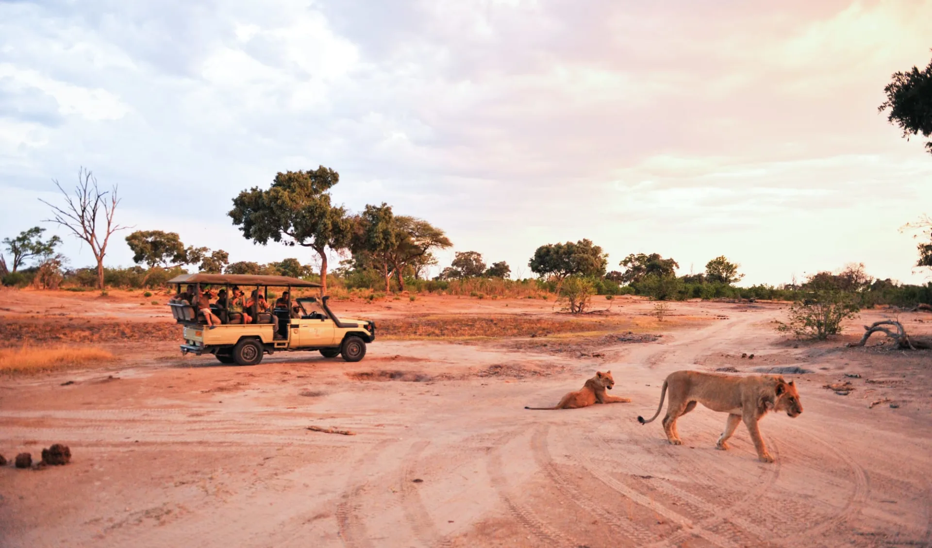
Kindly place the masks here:
[[(185, 344), (181, 345), (184, 354), (213, 354), (221, 363), (255, 365), (267, 353), (318, 350), (326, 358), (342, 354), (347, 362), (359, 362), (365, 355), (365, 345), (376, 339), (375, 322), (340, 320), (327, 306), (326, 296), (292, 299), (293, 289), (320, 287), (318, 283), (285, 276), (234, 274), (184, 274), (168, 282), (178, 287), (178, 295), (169, 306), (171, 315), (185, 326)], [(189, 293), (183, 294), (183, 287)], [(287, 293), (269, 303), (269, 287), (283, 288)], [(226, 300), (218, 299), (210, 305), (214, 325), (199, 320), (196, 304), (200, 297), (196, 295), (204, 290), (226, 290), (228, 295)], [(267, 311), (261, 309), (258, 298), (242, 311), (231, 307), (233, 290), (243, 291), (246, 298), (263, 295)]]

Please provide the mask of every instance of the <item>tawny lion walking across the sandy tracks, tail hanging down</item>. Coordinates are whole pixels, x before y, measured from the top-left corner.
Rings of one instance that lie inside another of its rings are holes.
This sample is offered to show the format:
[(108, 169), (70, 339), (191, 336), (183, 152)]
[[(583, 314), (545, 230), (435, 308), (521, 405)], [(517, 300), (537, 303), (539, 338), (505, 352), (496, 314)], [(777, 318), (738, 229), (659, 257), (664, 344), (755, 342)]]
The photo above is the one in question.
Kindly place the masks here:
[(793, 418), (802, 413), (800, 393), (796, 391), (796, 385), (791, 380), (787, 382), (782, 376), (738, 377), (700, 371), (677, 371), (671, 373), (664, 381), (657, 412), (648, 420), (638, 417), (638, 422), (647, 424), (660, 415), (667, 391), (670, 393), (670, 404), (666, 408), (664, 431), (671, 444), (682, 444), (677, 432), (677, 418), (692, 411), (698, 402), (713, 411), (728, 413), (725, 432), (721, 432), (716, 448), (727, 449), (728, 444), (725, 442), (732, 437), (738, 422), (744, 420), (747, 432), (751, 434), (751, 440), (757, 449), (758, 459), (763, 462), (773, 462), (774, 458), (763, 445), (761, 430), (758, 428), (761, 417), (771, 409), (786, 411), (787, 415)]

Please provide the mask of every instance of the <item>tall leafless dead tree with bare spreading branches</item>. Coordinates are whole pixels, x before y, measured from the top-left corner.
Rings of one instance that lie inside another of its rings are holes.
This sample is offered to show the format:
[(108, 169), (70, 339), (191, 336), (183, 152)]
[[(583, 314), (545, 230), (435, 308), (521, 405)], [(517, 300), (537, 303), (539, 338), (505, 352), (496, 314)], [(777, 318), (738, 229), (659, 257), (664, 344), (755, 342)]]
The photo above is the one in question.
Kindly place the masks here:
[[(117, 186), (102, 192), (94, 174), (83, 167), (77, 171), (74, 195), (65, 192), (57, 180), (52, 179), (52, 182), (62, 191), (65, 205), (60, 208), (39, 199), (52, 209), (54, 215), (54, 218), (45, 219), (44, 222), (58, 223), (68, 228), (76, 238), (90, 246), (90, 253), (93, 253), (94, 259), (97, 260), (97, 283), (103, 295), (103, 256), (107, 252), (107, 243), (114, 232), (127, 228), (114, 223), (114, 212), (119, 204)], [(103, 219), (100, 219), (102, 213)]]

